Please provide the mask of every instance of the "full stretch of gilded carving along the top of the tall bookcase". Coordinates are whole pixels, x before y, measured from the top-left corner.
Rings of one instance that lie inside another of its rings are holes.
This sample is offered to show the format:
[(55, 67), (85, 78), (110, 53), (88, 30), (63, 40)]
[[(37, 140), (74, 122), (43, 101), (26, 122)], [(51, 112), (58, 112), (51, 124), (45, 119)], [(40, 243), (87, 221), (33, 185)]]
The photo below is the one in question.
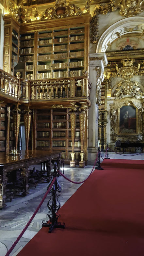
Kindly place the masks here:
[(33, 21), (32, 17), (34, 17), (35, 20), (43, 21), (71, 16), (80, 16), (83, 14), (88, 14), (90, 8), (90, 0), (85, 2), (83, 10), (81, 10), (81, 8), (75, 4), (72, 4), (70, 1), (56, 0), (53, 7), (47, 8), (44, 12), (42, 12), (42, 14), (40, 14), (37, 4), (28, 9), (27, 3), (27, 0), (22, 0), (20, 4), (16, 5), (12, 0), (8, 1), (9, 13), (11, 13), (20, 23), (29, 23)]

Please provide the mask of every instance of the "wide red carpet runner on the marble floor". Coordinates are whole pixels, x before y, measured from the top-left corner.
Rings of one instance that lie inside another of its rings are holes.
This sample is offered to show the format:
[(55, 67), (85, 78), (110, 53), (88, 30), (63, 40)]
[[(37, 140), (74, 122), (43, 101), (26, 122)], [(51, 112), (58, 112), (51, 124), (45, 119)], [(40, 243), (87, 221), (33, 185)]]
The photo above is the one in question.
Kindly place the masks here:
[(60, 209), (66, 228), (42, 228), (18, 256), (144, 255), (144, 161), (102, 166)]

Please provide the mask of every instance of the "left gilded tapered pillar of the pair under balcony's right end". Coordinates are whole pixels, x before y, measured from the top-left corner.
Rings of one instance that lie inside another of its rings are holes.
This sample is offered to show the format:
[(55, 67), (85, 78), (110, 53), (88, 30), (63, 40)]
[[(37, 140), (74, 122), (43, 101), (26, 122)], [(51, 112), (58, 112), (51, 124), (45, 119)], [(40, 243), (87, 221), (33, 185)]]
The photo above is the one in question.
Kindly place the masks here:
[(72, 107), (70, 108), (70, 111), (72, 111), (70, 118), (71, 118), (71, 134), (72, 134), (72, 152), (71, 152), (71, 157), (72, 160), (70, 161), (70, 167), (75, 167), (75, 152), (74, 152), (74, 141), (75, 141), (75, 126), (76, 126), (76, 115), (75, 111), (77, 110), (75, 107), (75, 102), (71, 102)]

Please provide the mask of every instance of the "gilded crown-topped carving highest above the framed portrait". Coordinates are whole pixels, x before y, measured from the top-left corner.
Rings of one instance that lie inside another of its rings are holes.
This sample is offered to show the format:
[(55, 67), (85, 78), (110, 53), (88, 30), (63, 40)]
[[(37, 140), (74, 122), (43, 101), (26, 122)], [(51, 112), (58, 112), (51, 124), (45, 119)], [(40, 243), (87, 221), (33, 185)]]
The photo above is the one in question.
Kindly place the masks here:
[(118, 68), (118, 64), (116, 64), (116, 70), (117, 70), (117, 75), (121, 76), (124, 79), (130, 79), (134, 77), (134, 75), (138, 75), (138, 71), (140, 68), (140, 63), (138, 63), (138, 66), (135, 67), (133, 66), (135, 60), (134, 59), (129, 59), (127, 56), (127, 59), (122, 59), (122, 68)]

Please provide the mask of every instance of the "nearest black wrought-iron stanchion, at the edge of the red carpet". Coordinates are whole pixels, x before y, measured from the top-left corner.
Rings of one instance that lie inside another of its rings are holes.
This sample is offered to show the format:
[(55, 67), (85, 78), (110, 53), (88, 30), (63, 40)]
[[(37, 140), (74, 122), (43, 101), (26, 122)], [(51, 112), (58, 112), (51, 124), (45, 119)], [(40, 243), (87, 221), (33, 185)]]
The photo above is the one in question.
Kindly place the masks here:
[[(57, 177), (58, 174), (59, 173), (57, 172), (57, 164), (55, 163), (53, 177)], [(51, 233), (54, 228), (65, 228), (65, 223), (61, 224), (61, 222), (58, 222), (58, 217), (60, 217), (60, 215), (57, 214), (57, 211), (60, 208), (60, 202), (58, 201), (59, 192), (61, 192), (61, 186), (56, 178), (50, 191), (50, 200), (47, 203), (47, 207), (49, 209), (50, 214), (47, 214), (46, 216), (49, 217), (49, 220), (46, 222), (44, 220), (42, 221), (42, 227), (49, 227), (49, 233)]]

